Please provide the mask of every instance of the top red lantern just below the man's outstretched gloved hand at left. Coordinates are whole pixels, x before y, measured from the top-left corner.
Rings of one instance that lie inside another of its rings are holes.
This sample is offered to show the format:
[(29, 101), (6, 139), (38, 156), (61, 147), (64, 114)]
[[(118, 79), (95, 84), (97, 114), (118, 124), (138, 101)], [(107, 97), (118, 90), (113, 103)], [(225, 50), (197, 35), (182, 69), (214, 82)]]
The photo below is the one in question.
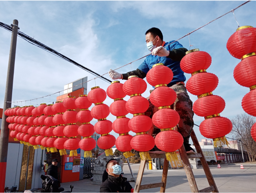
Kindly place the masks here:
[(124, 98), (126, 96), (123, 91), (123, 84), (120, 81), (111, 82), (106, 93), (111, 99)]

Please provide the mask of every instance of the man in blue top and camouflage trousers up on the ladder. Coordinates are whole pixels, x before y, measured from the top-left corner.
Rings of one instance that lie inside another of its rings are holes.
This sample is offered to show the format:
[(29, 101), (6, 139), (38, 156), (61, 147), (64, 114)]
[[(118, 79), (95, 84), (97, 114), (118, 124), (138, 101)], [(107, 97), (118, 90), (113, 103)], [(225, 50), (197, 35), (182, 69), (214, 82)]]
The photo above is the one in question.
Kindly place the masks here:
[[(145, 35), (147, 48), (150, 52), (152, 52), (152, 54), (146, 57), (142, 64), (139, 65), (138, 69), (127, 72), (125, 74), (120, 74), (110, 69), (109, 76), (113, 80), (127, 80), (128, 77), (132, 75), (137, 75), (143, 79), (146, 77), (147, 72), (152, 68), (154, 64), (163, 63), (165, 66), (168, 66), (173, 72), (173, 79), (167, 86), (174, 89), (177, 94), (177, 99), (174, 102), (174, 110), (176, 110), (180, 116), (178, 127), (184, 139), (186, 152), (194, 153), (193, 148), (191, 148), (189, 144), (190, 133), (194, 126), (194, 112), (192, 110), (192, 101), (187, 94), (184, 83), (184, 81), (186, 81), (186, 77), (180, 68), (180, 61), (186, 55), (186, 51), (188, 50), (184, 48), (178, 41), (163, 41), (162, 32), (158, 28), (150, 28), (146, 31)], [(152, 91), (153, 90), (150, 90), (150, 93)], [(145, 112), (145, 115), (152, 118), (153, 110), (154, 105), (150, 103), (150, 108)], [(160, 129), (155, 128), (153, 136), (156, 136), (159, 132)]]

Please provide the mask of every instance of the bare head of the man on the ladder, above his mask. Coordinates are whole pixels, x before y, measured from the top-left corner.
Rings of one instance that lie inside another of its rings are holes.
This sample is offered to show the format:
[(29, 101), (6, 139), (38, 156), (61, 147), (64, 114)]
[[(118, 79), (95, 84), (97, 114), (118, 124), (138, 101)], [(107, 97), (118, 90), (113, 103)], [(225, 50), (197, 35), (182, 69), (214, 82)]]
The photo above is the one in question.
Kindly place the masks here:
[(156, 27), (152, 27), (149, 30), (146, 31), (146, 43), (149, 43), (150, 41), (153, 41), (153, 45), (156, 45), (156, 47), (162, 45), (163, 43), (163, 34), (161, 30), (159, 30)]

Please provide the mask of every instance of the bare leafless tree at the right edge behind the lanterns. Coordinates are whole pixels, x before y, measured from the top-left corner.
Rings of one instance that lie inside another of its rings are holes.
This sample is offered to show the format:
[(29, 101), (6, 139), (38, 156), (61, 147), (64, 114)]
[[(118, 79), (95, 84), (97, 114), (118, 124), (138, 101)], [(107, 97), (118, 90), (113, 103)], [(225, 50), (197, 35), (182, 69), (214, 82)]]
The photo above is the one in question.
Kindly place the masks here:
[(236, 139), (241, 139), (242, 146), (247, 151), (249, 161), (255, 161), (256, 142), (251, 137), (251, 128), (256, 122), (256, 118), (243, 113), (235, 116), (231, 119), (231, 122), (233, 124), (233, 128), (230, 133), (233, 134)]

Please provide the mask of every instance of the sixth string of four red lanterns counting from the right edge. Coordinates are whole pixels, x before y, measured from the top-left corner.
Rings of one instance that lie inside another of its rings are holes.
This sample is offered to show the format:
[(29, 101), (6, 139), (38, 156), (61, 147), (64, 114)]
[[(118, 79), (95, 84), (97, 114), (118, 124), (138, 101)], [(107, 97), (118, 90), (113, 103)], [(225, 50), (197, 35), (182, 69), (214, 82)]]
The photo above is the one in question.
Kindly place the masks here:
[(106, 117), (110, 113), (109, 106), (103, 104), (106, 97), (106, 91), (99, 86), (91, 88), (91, 91), (88, 93), (88, 100), (95, 105), (91, 109), (91, 116), (98, 120), (94, 125), (94, 131), (101, 135), (97, 141), (97, 145), (99, 148), (105, 150), (106, 156), (110, 156), (113, 155), (112, 147), (115, 145), (116, 138), (109, 134), (112, 131), (112, 122), (106, 120)]

